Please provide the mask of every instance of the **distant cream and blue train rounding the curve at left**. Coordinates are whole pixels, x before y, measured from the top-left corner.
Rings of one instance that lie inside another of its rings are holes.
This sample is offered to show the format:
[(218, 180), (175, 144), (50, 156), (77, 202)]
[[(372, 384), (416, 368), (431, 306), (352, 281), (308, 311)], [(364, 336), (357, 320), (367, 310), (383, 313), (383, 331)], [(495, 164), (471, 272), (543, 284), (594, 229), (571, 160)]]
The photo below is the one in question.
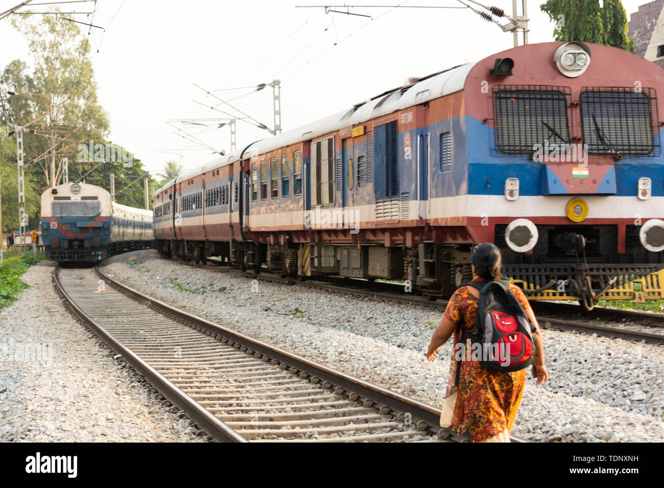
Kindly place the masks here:
[(103, 188), (64, 183), (41, 197), (46, 259), (97, 262), (117, 252), (153, 246), (151, 210), (111, 201)]

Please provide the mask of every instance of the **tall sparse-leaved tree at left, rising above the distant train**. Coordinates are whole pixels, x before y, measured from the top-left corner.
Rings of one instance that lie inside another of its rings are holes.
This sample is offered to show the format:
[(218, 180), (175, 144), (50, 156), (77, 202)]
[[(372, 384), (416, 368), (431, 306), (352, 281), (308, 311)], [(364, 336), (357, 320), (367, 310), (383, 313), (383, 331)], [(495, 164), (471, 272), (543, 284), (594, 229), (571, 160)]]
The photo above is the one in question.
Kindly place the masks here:
[[(57, 107), (48, 118), (31, 125), (35, 134), (24, 137), (27, 169), (45, 189), (51, 183), (52, 158), (56, 161), (54, 184), (58, 184), (62, 157), (71, 161), (79, 142), (105, 142), (108, 116), (98, 104), (89, 37), (76, 23), (60, 15), (17, 15), (11, 22), (27, 39), (33, 72), (30, 74), (27, 64), (20, 60), (10, 62), (3, 71), (3, 88), (16, 95), (0, 106), (0, 122), (12, 127), (23, 125)], [(25, 88), (30, 95), (25, 94)], [(62, 102), (66, 103), (60, 106)], [(45, 122), (56, 125), (51, 131)], [(38, 169), (42, 170), (39, 176)]]

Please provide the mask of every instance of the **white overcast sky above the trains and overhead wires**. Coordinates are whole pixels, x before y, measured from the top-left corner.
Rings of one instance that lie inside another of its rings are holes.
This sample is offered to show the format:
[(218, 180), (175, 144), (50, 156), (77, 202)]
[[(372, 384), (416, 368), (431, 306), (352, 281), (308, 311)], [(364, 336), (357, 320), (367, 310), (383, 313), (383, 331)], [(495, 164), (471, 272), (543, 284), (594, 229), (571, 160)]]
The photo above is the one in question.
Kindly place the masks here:
[[(41, 3), (46, 0), (36, 0)], [(326, 0), (345, 10), (345, 2)], [(0, 11), (16, 5), (0, 0)], [(282, 127), (329, 116), (357, 102), (400, 86), (408, 76), (424, 76), (448, 66), (510, 48), (512, 35), (469, 9), (362, 8), (362, 5), (438, 5), (456, 0), (347, 0), (357, 17), (325, 14), (320, 0), (98, 0), (92, 29), (92, 59), (99, 101), (111, 121), (110, 140), (158, 172), (175, 159), (191, 169), (214, 159), (212, 151), (174, 135), (169, 120), (223, 118), (208, 106), (220, 104), (205, 90), (272, 127), (272, 88), (228, 90), (282, 80)], [(511, 0), (496, 0), (511, 14)], [(521, 13), (519, 0), (519, 13)], [(554, 26), (530, 0), (529, 42), (552, 41)], [(624, 0), (627, 17), (646, 0)], [(87, 12), (89, 3), (59, 5), (61, 11)], [(47, 7), (31, 7), (43, 11)], [(477, 7), (480, 9), (480, 7)], [(75, 19), (86, 21), (86, 15)], [(505, 19), (501, 23), (505, 23)], [(87, 27), (80, 26), (87, 32)], [(31, 60), (25, 40), (0, 21), (0, 68), (15, 58)], [(335, 46), (335, 42), (337, 45)], [(521, 42), (521, 39), (520, 39)], [(96, 52), (98, 50), (98, 52)], [(242, 96), (248, 94), (246, 96)], [(220, 110), (236, 114), (228, 106)], [(212, 122), (210, 122), (212, 123)], [(214, 149), (230, 152), (230, 130), (185, 128)], [(207, 130), (207, 131), (206, 131)], [(237, 146), (270, 137), (267, 131), (237, 123)], [(162, 151), (169, 151), (162, 152)], [(173, 154), (175, 153), (175, 154)]]

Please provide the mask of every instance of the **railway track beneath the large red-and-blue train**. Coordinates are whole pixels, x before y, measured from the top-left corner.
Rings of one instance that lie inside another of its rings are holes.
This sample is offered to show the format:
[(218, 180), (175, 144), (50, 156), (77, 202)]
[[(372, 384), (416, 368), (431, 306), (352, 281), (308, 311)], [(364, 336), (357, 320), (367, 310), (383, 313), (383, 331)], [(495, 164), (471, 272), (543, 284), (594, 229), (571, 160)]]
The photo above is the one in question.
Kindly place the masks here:
[[(402, 287), (394, 285), (392, 291), (376, 291), (374, 289), (366, 289), (358, 287), (363, 284), (360, 280), (352, 280), (353, 287), (332, 285), (316, 281), (300, 282), (295, 278), (282, 278), (270, 272), (263, 272), (255, 274), (253, 272), (237, 270), (235, 268), (212, 266), (196, 264), (181, 260), (174, 260), (188, 266), (195, 266), (197, 268), (204, 268), (216, 272), (232, 272), (247, 276), (249, 278), (256, 278), (258, 280), (266, 280), (268, 282), (278, 282), (289, 285), (299, 285), (322, 289), (329, 293), (337, 293), (348, 297), (368, 298), (386, 303), (410, 303), (436, 311), (444, 311), (447, 306), (447, 301), (430, 301), (419, 297), (417, 295), (408, 296), (404, 293), (399, 294), (398, 289)], [(340, 280), (343, 281), (343, 280)], [(387, 284), (383, 284), (387, 285)], [(388, 286), (383, 286), (389, 288)], [(582, 310), (578, 305), (571, 305), (569, 303), (550, 303), (550, 302), (531, 302), (533, 309), (537, 314), (537, 320), (544, 329), (578, 332), (584, 334), (596, 334), (600, 337), (608, 337), (610, 339), (622, 339), (623, 341), (631, 341), (635, 343), (646, 343), (664, 346), (664, 314), (661, 313), (647, 313), (635, 310), (620, 310), (620, 309), (606, 309), (595, 307), (591, 312)], [(546, 315), (542, 315), (545, 313)], [(562, 318), (560, 315), (582, 315), (584, 321), (578, 319)], [(602, 323), (592, 323), (599, 320), (617, 323), (616, 325), (608, 325)], [(622, 323), (631, 323), (637, 325), (630, 325), (625, 327)]]

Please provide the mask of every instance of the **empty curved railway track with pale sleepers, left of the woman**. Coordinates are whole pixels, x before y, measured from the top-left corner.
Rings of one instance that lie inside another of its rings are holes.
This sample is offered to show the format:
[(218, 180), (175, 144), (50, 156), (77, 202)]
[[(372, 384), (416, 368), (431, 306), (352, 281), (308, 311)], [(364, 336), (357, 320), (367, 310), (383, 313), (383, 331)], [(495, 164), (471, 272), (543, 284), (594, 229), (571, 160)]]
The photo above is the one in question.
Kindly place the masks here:
[(468, 439), (438, 427), (438, 407), (189, 315), (97, 268), (56, 268), (54, 282), (102, 341), (215, 440)]

